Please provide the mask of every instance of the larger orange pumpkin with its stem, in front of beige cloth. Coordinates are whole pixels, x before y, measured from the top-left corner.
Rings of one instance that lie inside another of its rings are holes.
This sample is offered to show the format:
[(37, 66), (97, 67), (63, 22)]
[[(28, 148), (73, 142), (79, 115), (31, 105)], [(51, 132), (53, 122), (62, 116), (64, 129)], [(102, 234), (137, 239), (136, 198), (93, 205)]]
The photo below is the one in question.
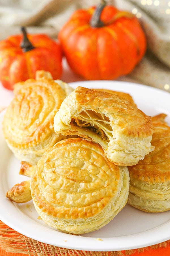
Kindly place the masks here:
[(105, 5), (75, 11), (58, 35), (71, 69), (89, 80), (129, 74), (146, 51), (136, 16)]

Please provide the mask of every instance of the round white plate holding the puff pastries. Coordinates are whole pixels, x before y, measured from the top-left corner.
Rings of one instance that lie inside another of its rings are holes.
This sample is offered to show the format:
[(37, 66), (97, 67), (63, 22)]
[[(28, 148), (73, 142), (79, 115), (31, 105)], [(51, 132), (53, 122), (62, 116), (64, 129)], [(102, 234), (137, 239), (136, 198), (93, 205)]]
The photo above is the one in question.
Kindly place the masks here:
[[(83, 81), (72, 87), (107, 88), (131, 94), (138, 108), (147, 115), (166, 113), (170, 124), (170, 94), (159, 89), (122, 81)], [(3, 113), (0, 115), (0, 123)], [(14, 230), (35, 240), (86, 251), (119, 251), (135, 249), (170, 239), (170, 212), (146, 213), (126, 205), (118, 215), (100, 230), (81, 236), (61, 233), (42, 220), (33, 203), (15, 204), (5, 194), (14, 184), (26, 180), (18, 175), (20, 162), (8, 149), (0, 126), (0, 219)], [(99, 239), (100, 238), (100, 239)]]

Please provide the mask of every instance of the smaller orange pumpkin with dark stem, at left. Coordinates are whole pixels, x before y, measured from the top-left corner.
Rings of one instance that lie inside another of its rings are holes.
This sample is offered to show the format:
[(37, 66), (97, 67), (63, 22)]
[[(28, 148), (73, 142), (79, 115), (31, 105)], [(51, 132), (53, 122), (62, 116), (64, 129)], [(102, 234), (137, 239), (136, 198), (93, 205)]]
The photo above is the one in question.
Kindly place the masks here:
[(12, 90), (15, 83), (35, 79), (37, 70), (49, 71), (53, 79), (62, 73), (62, 51), (58, 42), (45, 34), (14, 35), (0, 42), (0, 81)]

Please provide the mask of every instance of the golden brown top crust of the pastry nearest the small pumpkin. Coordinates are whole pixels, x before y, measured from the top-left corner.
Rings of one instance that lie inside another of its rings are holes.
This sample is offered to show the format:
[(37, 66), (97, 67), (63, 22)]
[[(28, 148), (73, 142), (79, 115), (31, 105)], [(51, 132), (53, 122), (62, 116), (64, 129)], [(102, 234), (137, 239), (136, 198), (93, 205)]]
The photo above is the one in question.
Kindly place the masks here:
[[(35, 90), (36, 88), (36, 90)], [(54, 91), (56, 98), (54, 98)], [(59, 95), (59, 97), (58, 97)], [(7, 108), (4, 119), (10, 119), (10, 127), (4, 123), (4, 133), (12, 146), (25, 148), (37, 144), (51, 134), (55, 113), (65, 98), (54, 81), (29, 79), (14, 89), (14, 99)], [(22, 132), (16, 134), (16, 132)]]

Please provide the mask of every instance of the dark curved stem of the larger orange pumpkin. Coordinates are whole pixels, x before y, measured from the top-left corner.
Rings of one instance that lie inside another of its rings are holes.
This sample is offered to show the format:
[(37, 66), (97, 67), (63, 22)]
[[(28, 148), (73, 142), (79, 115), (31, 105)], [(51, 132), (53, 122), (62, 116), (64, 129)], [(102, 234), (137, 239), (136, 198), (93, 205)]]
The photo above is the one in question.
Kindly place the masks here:
[(90, 26), (93, 28), (103, 27), (105, 24), (103, 21), (100, 20), (101, 12), (103, 11), (104, 7), (106, 6), (106, 1), (102, 0), (101, 3), (96, 8), (92, 18), (90, 20)]

